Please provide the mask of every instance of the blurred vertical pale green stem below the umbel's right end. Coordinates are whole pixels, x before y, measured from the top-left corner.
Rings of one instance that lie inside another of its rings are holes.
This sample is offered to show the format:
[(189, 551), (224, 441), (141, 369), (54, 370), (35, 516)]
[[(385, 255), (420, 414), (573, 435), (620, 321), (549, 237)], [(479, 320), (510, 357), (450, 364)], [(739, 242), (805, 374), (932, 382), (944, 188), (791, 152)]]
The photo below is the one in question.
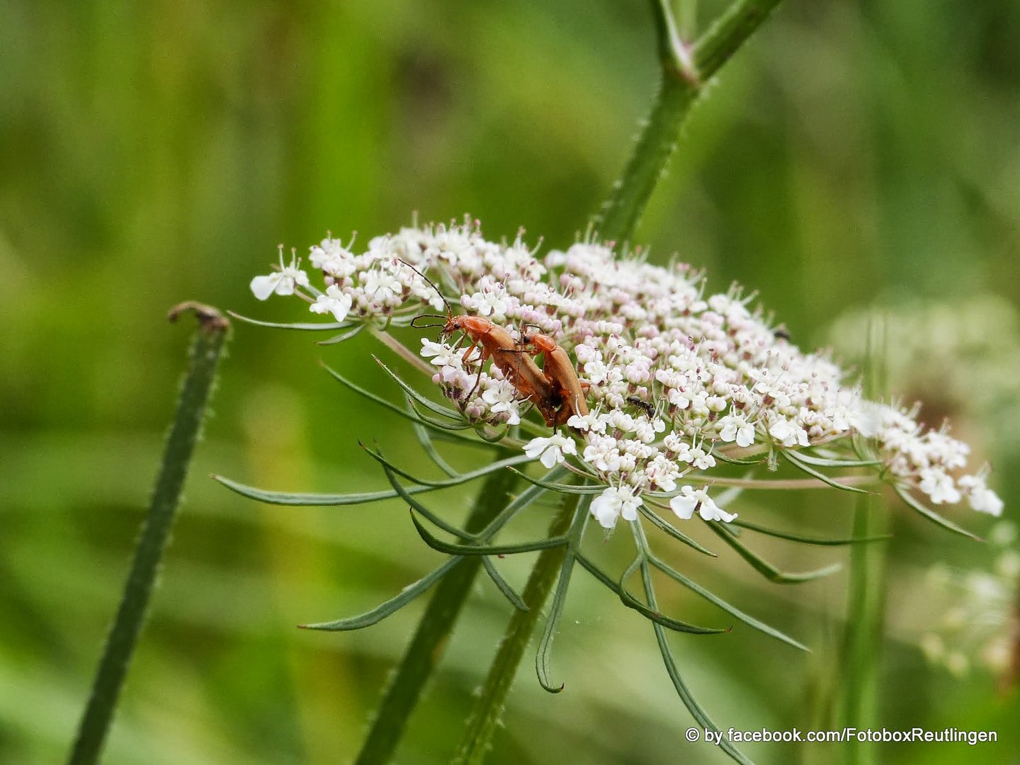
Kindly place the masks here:
[[(854, 536), (871, 537), (885, 531), (881, 500), (862, 497), (854, 510)], [(876, 682), (881, 658), (882, 621), (885, 610), (884, 545), (855, 545), (851, 552), (847, 634), (843, 652), (842, 682), (838, 683), (839, 727), (874, 727)], [(852, 742), (843, 752), (846, 765), (873, 763), (870, 743)]]

